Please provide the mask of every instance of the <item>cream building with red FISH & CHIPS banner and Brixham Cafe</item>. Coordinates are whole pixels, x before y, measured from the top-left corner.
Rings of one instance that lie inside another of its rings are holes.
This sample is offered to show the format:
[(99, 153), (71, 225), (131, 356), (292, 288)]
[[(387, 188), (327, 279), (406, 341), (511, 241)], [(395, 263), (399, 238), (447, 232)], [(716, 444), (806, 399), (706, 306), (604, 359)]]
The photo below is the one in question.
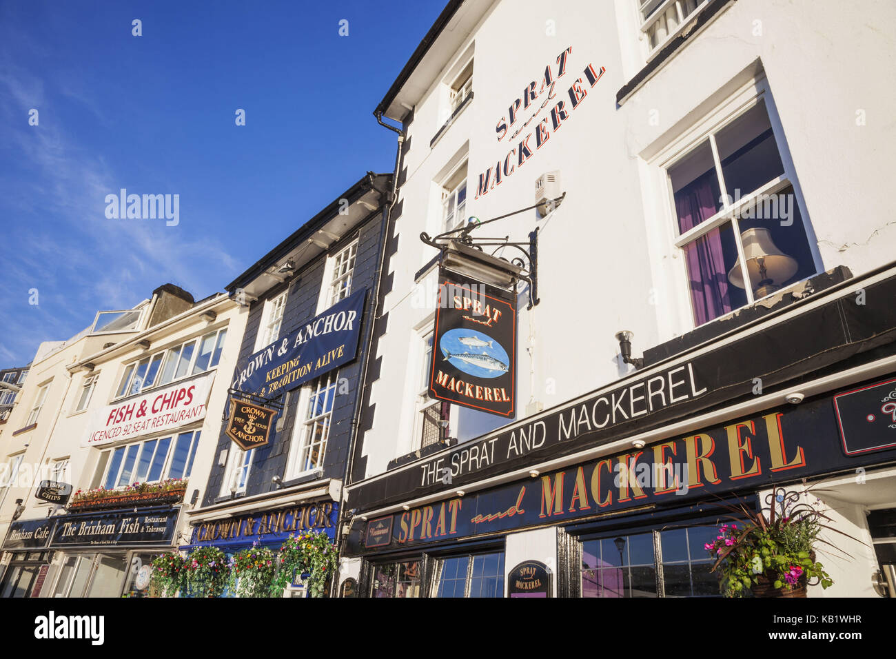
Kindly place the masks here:
[(40, 346), (2, 447), (18, 459), (0, 596), (151, 594), (151, 560), (184, 542), (211, 464), (246, 316), (226, 293), (165, 284)]

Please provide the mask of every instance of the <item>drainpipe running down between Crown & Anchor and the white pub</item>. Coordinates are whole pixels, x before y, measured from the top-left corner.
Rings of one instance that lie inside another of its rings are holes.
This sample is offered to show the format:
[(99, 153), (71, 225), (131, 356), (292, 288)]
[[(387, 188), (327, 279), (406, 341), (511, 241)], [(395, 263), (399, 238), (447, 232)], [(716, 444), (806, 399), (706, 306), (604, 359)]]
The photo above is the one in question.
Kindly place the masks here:
[[(385, 263), (386, 256), (386, 246), (385, 241), (386, 238), (390, 235), (389, 229), (392, 227), (392, 209), (395, 206), (395, 201), (398, 198), (398, 174), (401, 168), (401, 147), (404, 145), (404, 133), (401, 132), (401, 129), (396, 128), (395, 126), (389, 126), (383, 122), (383, 113), (375, 112), (374, 116), (376, 117), (376, 121), (380, 126), (385, 126), (389, 130), (398, 134), (398, 144), (395, 148), (395, 169), (392, 172), (392, 190), (386, 195), (386, 203), (389, 204), (388, 211), (386, 211), (385, 219), (383, 220), (383, 225), (380, 228), (380, 262), (376, 266), (376, 273), (374, 274), (375, 280), (375, 288), (374, 288), (374, 306), (373, 312), (370, 315), (370, 321), (367, 326), (367, 341), (366, 341), (366, 350), (364, 351), (364, 366), (361, 369), (361, 373), (363, 377), (358, 382), (358, 392), (355, 395), (355, 413), (352, 414), (351, 419), (351, 441), (349, 442), (349, 463), (346, 465), (345, 478), (342, 481), (342, 494), (340, 496), (340, 515), (339, 515), (339, 524), (336, 528), (336, 546), (340, 550), (341, 554), (341, 544), (342, 544), (342, 525), (343, 525), (343, 516), (342, 511), (344, 510), (345, 505), (345, 491), (349, 484), (349, 479), (351, 478), (352, 468), (355, 465), (355, 452), (358, 450), (357, 442), (358, 442), (358, 427), (360, 426), (360, 415), (361, 415), (361, 402), (364, 398), (364, 387), (367, 384), (367, 376), (370, 372), (370, 352), (373, 348), (374, 344), (374, 325), (376, 322), (377, 314), (380, 310), (380, 284), (383, 281), (383, 264)], [(331, 586), (331, 596), (335, 597), (339, 594), (339, 580), (334, 578), (333, 584)]]

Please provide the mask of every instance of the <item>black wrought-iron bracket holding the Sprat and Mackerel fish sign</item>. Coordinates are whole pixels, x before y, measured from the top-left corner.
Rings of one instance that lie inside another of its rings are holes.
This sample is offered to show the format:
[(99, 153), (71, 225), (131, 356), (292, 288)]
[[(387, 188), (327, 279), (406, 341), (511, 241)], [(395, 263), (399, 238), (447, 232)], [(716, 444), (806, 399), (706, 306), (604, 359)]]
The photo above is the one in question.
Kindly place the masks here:
[[(566, 193), (557, 197), (556, 199), (550, 200), (548, 202), (548, 206), (552, 209), (556, 208), (556, 206), (560, 205), (560, 203), (563, 202), (565, 196)], [(482, 236), (474, 237), (470, 234), (473, 230), (476, 230), (479, 227), (488, 224), (489, 222), (503, 220), (506, 217), (516, 215), (520, 212), (530, 211), (533, 208), (538, 208), (539, 205), (541, 204), (533, 204), (531, 206), (527, 206), (526, 208), (522, 208), (519, 211), (504, 213), (504, 215), (499, 215), (498, 217), (492, 218), (491, 220), (487, 221), (478, 221), (478, 219), (476, 218), (470, 218), (470, 221), (465, 226), (450, 231), (445, 231), (444, 233), (440, 233), (432, 238), (430, 238), (429, 234), (427, 234), (426, 231), (423, 231), (422, 233), (420, 233), (420, 240), (426, 243), (426, 245), (435, 247), (436, 249), (440, 250), (442, 253), (440, 261), (442, 262), (444, 262), (444, 256), (445, 252), (448, 249), (448, 246), (452, 243), (464, 245), (473, 249), (478, 249), (483, 253), (485, 253), (484, 247), (495, 247), (495, 249), (492, 250), (489, 256), (495, 256), (496, 253), (504, 247), (513, 247), (514, 249), (519, 250), (522, 253), (522, 256), (514, 256), (508, 261), (508, 263), (515, 265), (516, 268), (518, 268), (521, 272), (512, 272), (508, 270), (508, 274), (513, 277), (514, 286), (515, 280), (517, 279), (529, 284), (529, 305), (526, 308), (530, 309), (532, 307), (535, 307), (540, 301), (540, 299), (538, 299), (538, 228), (530, 231), (528, 242), (512, 241), (509, 236), (504, 236), (504, 238), (487, 238)], [(507, 261), (507, 259), (502, 260)]]

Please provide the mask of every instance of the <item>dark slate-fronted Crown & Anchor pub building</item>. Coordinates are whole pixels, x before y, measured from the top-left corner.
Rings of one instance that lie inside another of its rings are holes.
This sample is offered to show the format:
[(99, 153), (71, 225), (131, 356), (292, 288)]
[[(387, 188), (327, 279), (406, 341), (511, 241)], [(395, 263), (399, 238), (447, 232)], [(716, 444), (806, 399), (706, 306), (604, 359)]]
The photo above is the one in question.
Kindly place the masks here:
[[(392, 176), (368, 172), (228, 284), (248, 320), (182, 550), (338, 540), (390, 198)], [(299, 577), (286, 592), (305, 594)]]

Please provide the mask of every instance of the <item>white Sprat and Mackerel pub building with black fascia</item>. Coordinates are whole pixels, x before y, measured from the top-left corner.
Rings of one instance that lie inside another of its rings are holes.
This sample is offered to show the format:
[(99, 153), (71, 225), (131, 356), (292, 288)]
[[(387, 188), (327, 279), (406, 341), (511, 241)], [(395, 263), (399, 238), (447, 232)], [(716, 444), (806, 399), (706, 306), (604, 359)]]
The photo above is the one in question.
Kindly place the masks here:
[(445, 6), (375, 108), (401, 249), (340, 586), (719, 595), (721, 506), (802, 501), (842, 551), (821, 545), (834, 583), (808, 596), (896, 594), (893, 129), (867, 20)]

